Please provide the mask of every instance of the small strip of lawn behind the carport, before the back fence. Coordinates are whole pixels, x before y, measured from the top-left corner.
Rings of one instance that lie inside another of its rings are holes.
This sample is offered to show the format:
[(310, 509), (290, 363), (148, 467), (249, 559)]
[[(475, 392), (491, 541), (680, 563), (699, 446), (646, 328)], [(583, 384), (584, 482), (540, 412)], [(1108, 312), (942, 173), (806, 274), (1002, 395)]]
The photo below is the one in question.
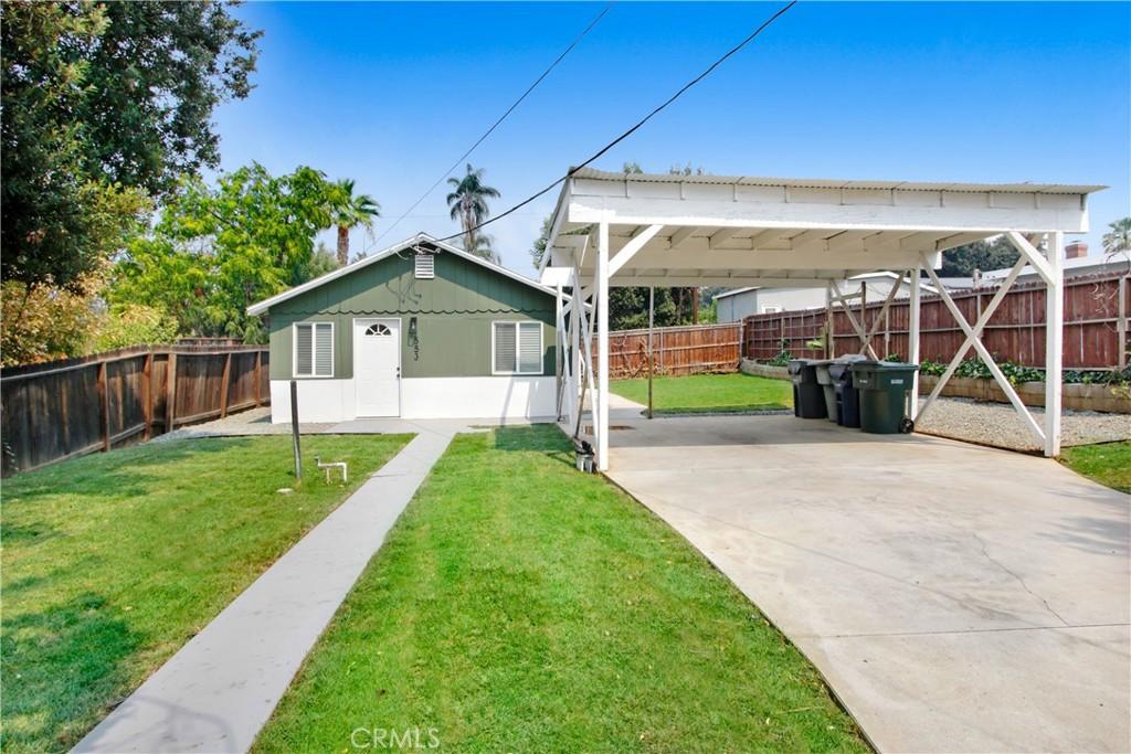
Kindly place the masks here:
[[(648, 404), (648, 380), (613, 380), (618, 396)], [(653, 384), (656, 414), (733, 414), (793, 408), (793, 387), (787, 380), (771, 380), (733, 372), (661, 376)]]

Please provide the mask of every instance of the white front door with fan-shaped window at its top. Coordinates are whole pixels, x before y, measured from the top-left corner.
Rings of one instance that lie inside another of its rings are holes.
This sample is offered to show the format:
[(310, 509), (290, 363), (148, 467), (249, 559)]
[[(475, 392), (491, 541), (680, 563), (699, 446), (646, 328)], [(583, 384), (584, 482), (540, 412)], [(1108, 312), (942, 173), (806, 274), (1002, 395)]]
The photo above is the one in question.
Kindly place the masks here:
[(400, 320), (354, 320), (357, 416), (400, 416)]

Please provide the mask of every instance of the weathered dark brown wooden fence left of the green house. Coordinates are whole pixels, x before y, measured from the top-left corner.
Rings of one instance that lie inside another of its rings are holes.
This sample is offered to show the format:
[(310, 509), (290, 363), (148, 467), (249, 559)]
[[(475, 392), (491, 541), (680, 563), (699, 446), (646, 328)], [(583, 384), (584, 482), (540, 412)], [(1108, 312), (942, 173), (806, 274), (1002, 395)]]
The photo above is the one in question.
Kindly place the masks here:
[(2, 474), (270, 400), (266, 346), (123, 348), (0, 372)]

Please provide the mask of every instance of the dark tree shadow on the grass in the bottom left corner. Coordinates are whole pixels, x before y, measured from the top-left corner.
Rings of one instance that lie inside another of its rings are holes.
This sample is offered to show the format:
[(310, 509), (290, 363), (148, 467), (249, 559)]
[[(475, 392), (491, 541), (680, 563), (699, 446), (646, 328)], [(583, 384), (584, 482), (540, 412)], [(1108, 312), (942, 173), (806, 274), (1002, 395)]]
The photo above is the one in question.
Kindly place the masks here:
[(95, 592), (6, 615), (0, 748), (66, 751), (78, 743), (130, 682), (123, 661), (143, 641)]

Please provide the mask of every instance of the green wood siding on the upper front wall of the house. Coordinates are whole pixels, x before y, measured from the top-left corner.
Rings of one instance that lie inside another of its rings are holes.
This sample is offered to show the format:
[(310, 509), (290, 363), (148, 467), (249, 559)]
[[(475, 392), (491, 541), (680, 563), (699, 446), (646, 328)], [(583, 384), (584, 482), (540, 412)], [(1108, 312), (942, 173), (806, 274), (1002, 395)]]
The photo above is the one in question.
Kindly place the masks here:
[[(334, 378), (353, 376), (353, 320), (400, 319), (405, 378), (490, 376), (491, 323), (543, 323), (543, 374), (554, 373), (554, 297), (448, 252), (435, 255), (435, 278), (417, 280), (413, 252), (392, 254), (271, 306), (273, 380), (293, 376), (295, 322), (334, 322)], [(409, 341), (416, 318), (420, 353)]]

